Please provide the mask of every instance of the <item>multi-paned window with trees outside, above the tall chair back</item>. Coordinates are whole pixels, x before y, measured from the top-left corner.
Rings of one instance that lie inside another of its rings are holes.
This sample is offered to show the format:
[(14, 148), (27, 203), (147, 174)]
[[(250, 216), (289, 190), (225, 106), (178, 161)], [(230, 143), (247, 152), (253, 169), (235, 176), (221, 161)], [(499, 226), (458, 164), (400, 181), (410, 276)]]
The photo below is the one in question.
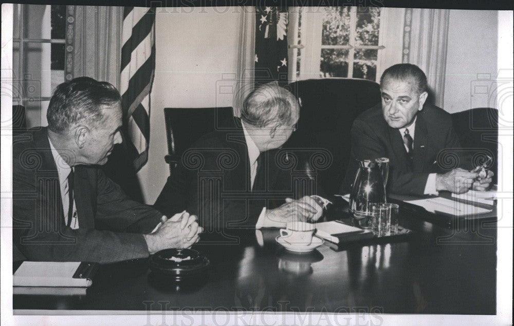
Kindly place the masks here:
[(289, 79), (349, 77), (377, 81), (384, 10), (378, 7), (293, 7)]

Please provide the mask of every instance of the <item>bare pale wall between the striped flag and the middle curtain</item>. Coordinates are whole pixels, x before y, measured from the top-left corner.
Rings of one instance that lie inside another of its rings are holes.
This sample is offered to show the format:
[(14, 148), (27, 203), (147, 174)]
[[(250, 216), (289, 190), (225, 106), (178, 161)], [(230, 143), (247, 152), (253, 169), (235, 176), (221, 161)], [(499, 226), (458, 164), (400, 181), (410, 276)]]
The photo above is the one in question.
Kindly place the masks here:
[(138, 172), (148, 204), (170, 175), (163, 109), (232, 106), (241, 15), (237, 7), (157, 10), (149, 159)]

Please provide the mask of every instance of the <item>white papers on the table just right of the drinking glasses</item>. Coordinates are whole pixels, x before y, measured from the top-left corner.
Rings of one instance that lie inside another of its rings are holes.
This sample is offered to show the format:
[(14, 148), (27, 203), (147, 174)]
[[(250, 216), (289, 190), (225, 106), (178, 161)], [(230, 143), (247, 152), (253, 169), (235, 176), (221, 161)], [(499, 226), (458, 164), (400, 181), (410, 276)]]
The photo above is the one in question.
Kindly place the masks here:
[(473, 205), (453, 201), (451, 199), (446, 199), (442, 197), (408, 200), (406, 201), (406, 203), (421, 206), (431, 213), (435, 213), (435, 211), (437, 210), (437, 212), (446, 213), (454, 216), (478, 215), (483, 213), (489, 213), (492, 211), (492, 209), (476, 207)]

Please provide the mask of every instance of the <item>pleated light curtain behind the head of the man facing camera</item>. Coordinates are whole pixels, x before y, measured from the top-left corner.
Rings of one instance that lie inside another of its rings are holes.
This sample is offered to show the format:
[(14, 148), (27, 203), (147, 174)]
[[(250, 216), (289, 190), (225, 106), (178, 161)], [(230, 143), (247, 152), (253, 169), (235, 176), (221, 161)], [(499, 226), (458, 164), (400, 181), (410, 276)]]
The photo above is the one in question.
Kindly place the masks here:
[(449, 21), (449, 9), (405, 11), (402, 61), (425, 71), (430, 96), (439, 107), (444, 107)]

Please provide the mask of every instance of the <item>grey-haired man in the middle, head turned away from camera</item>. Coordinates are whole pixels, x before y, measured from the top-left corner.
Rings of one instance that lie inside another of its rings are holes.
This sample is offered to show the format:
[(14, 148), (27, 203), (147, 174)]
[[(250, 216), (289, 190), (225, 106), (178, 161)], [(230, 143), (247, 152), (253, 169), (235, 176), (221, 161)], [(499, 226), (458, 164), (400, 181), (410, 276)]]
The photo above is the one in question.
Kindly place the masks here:
[[(164, 213), (187, 209), (207, 231), (222, 233), (313, 217), (320, 207), (302, 196), (315, 191), (314, 183), (293, 176), (297, 157), (280, 149), (296, 128), (299, 109), (294, 95), (276, 82), (256, 88), (233, 128), (209, 133), (182, 155), (155, 207)], [(295, 191), (301, 180), (312, 191)]]

